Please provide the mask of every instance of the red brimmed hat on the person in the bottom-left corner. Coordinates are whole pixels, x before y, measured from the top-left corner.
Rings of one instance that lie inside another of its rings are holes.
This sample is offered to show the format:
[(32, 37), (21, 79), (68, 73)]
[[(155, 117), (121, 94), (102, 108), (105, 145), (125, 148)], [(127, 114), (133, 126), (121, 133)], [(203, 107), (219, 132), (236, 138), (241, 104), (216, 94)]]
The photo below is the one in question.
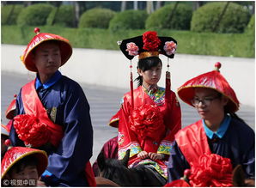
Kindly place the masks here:
[(24, 157), (27, 157), (28, 155), (34, 155), (34, 157), (37, 158), (37, 170), (40, 177), (48, 165), (48, 157), (46, 152), (39, 149), (13, 147), (9, 149), (3, 156), (3, 160), (1, 162), (1, 179), (3, 179), (6, 173), (8, 173), (9, 169), (13, 167), (16, 162), (20, 161)]

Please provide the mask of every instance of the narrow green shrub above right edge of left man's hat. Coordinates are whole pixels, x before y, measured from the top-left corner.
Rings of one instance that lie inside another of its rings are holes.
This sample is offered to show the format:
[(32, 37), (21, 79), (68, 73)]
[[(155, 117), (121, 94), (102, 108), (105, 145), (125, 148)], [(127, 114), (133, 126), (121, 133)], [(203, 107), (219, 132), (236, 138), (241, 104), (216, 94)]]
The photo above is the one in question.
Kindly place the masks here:
[(63, 27), (75, 27), (75, 11), (71, 5), (61, 5), (52, 9), (47, 18), (47, 25), (58, 25)]

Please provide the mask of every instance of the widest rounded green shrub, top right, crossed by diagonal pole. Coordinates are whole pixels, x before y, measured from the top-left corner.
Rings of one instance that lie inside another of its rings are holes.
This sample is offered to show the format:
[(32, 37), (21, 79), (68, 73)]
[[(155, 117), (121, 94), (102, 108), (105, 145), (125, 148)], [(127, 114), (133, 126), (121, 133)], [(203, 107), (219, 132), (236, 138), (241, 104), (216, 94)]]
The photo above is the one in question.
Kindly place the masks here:
[(250, 19), (247, 9), (237, 3), (229, 3), (229, 7), (213, 31), (219, 16), (227, 2), (207, 3), (193, 12), (192, 31), (216, 33), (243, 33)]

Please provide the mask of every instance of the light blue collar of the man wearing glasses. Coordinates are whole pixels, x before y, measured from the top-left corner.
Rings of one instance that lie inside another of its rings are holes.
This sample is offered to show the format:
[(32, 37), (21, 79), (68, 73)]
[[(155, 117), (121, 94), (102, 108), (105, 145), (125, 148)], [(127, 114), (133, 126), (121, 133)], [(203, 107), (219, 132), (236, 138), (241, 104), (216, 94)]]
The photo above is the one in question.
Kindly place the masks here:
[(208, 136), (210, 139), (212, 139), (214, 135), (218, 136), (219, 138), (222, 138), (222, 136), (224, 136), (226, 130), (228, 130), (228, 128), (229, 128), (230, 120), (231, 120), (231, 117), (226, 115), (224, 120), (222, 121), (222, 124), (219, 127), (219, 129), (216, 130), (216, 132), (213, 132), (206, 126), (206, 124), (204, 123), (204, 119), (202, 119), (206, 136)]

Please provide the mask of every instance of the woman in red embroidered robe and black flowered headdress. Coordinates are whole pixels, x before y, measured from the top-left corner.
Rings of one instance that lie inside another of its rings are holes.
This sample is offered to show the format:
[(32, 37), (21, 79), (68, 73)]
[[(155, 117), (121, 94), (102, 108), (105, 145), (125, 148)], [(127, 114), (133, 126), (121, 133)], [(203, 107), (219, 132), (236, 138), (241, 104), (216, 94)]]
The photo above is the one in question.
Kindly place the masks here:
[(119, 159), (131, 149), (129, 167), (154, 169), (162, 184), (167, 179), (167, 161), (174, 134), (181, 128), (180, 104), (170, 90), (169, 72), (166, 88), (159, 87), (162, 61), (159, 54), (174, 58), (177, 42), (170, 37), (158, 37), (156, 32), (124, 39), (120, 49), (130, 60), (138, 55), (138, 87), (124, 95), (119, 111)]

